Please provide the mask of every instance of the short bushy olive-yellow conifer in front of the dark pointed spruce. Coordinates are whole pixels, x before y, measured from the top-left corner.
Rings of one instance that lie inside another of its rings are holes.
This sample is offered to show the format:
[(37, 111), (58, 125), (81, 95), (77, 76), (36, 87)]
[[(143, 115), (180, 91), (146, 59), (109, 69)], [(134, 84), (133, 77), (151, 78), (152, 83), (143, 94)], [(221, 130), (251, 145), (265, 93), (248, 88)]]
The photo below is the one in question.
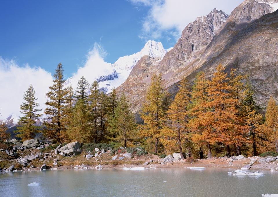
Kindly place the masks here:
[(72, 108), (71, 121), (67, 128), (67, 136), (70, 141), (88, 143), (92, 139), (90, 124), (90, 113), (87, 104), (83, 99), (79, 99)]

